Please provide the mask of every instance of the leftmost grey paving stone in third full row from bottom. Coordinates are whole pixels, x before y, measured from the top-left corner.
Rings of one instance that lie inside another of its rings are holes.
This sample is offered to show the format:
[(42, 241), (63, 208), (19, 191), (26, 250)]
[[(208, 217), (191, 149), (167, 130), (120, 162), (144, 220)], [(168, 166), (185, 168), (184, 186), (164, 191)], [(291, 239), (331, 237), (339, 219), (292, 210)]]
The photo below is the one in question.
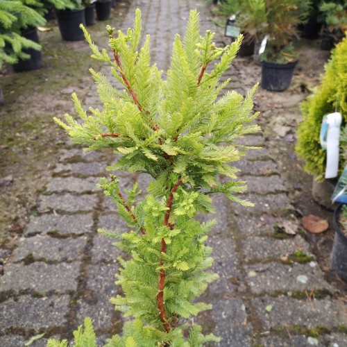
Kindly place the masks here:
[(34, 261), (66, 262), (67, 260), (81, 260), (87, 237), (77, 239), (56, 239), (54, 237), (36, 235), (22, 237), (13, 252), (12, 262), (20, 262), (29, 255)]

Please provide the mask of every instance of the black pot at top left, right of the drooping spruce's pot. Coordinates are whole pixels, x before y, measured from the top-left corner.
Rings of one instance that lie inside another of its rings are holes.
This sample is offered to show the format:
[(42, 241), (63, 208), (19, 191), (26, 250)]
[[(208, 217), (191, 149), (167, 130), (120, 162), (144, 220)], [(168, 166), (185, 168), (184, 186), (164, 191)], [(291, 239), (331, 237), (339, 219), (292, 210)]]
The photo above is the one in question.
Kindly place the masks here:
[(84, 40), (83, 31), (80, 24), (85, 26), (85, 9), (57, 11), (58, 25), (62, 40), (82, 41)]

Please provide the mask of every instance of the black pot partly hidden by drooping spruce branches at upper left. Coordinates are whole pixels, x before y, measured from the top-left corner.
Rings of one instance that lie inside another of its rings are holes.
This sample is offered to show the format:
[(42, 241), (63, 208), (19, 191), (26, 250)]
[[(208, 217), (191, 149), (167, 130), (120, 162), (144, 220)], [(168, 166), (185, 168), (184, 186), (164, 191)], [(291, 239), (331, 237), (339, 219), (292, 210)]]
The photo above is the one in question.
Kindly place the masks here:
[[(39, 35), (37, 34), (36, 28), (31, 29), (31, 31), (26, 31), (26, 33), (22, 33), (22, 36), (28, 40), (39, 43)], [(23, 52), (28, 54), (30, 58), (26, 60), (19, 59), (17, 64), (13, 65), (13, 69), (16, 72), (36, 70), (44, 66), (41, 51), (36, 51), (35, 49), (23, 49)]]

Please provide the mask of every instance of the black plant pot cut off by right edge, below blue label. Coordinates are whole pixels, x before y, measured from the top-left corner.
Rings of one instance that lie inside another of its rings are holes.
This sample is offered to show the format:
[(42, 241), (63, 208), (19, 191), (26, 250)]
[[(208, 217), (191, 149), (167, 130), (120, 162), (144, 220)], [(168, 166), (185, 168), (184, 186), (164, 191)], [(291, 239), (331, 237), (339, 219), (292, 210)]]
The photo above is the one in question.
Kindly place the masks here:
[(337, 276), (347, 282), (347, 237), (341, 231), (339, 226), (339, 215), (344, 204), (337, 206), (334, 212), (334, 228), (335, 238), (332, 246), (332, 269), (337, 273)]

